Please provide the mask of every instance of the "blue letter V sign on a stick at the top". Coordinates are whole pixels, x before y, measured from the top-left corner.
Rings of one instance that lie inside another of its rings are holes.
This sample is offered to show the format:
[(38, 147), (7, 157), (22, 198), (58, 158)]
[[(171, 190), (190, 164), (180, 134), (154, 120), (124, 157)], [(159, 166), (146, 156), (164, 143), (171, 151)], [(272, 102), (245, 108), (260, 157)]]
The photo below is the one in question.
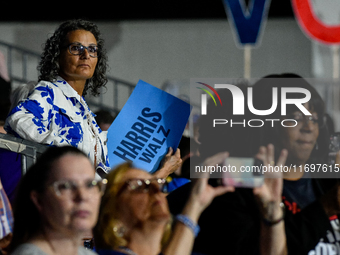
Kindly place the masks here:
[(231, 27), (240, 45), (256, 45), (261, 29), (267, 20), (270, 0), (223, 0)]

